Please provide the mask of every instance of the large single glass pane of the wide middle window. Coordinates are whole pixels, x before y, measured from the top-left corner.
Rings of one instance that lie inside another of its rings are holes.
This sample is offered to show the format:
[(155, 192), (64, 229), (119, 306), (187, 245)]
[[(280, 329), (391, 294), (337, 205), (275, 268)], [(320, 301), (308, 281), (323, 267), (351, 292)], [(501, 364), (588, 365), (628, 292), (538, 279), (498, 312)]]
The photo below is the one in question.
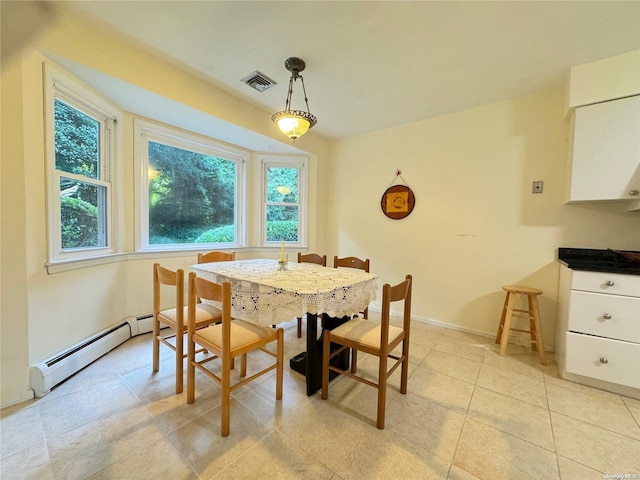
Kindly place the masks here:
[(149, 244), (235, 242), (236, 162), (149, 142)]

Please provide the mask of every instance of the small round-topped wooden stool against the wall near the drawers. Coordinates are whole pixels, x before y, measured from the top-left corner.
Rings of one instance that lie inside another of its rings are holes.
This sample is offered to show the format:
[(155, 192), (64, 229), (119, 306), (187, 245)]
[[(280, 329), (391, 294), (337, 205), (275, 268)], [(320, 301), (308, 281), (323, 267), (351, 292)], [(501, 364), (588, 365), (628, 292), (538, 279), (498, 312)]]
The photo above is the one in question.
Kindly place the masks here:
[[(538, 351), (540, 363), (546, 365), (544, 341), (542, 340), (542, 328), (540, 326), (540, 310), (538, 309), (538, 295), (542, 295), (542, 290), (533, 287), (523, 287), (521, 285), (504, 285), (502, 289), (507, 292), (507, 296), (504, 300), (498, 335), (496, 335), (496, 343), (500, 344), (500, 355), (504, 355), (504, 352), (507, 350), (511, 330), (515, 332), (525, 332), (531, 335), (531, 349)], [(516, 295), (527, 296), (529, 302), (528, 310), (513, 308)], [(528, 318), (529, 330), (511, 328), (511, 319), (513, 317)]]

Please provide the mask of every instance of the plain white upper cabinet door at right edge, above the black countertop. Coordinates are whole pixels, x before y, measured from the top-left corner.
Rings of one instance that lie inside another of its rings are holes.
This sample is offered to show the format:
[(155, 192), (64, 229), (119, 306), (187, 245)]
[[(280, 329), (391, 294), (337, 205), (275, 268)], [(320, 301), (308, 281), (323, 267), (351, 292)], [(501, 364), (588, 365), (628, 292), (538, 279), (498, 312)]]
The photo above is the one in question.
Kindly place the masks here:
[(640, 96), (575, 111), (570, 201), (640, 199)]

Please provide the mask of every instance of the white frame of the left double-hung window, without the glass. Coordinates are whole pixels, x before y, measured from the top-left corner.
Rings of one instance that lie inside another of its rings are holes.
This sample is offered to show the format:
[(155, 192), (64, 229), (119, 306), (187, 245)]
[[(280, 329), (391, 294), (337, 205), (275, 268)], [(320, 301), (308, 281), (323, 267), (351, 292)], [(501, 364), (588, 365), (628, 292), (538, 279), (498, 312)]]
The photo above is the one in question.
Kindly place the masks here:
[[(122, 112), (70, 75), (44, 63), (44, 126), (46, 162), (46, 210), (48, 265), (74, 260), (86, 260), (113, 255), (122, 249)], [(100, 127), (100, 175), (89, 178), (56, 168), (55, 101), (60, 100), (96, 120)], [(60, 179), (73, 178), (99, 188), (105, 188), (106, 205), (101, 211), (105, 229), (103, 247), (62, 248)]]

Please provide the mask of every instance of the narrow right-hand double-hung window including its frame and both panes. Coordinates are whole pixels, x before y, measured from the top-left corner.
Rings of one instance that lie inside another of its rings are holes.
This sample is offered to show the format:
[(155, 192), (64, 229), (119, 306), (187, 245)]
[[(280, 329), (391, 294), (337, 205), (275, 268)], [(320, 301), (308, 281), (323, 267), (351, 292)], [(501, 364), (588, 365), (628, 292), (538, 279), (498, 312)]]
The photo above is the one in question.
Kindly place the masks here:
[(306, 244), (307, 159), (263, 156), (263, 243)]

